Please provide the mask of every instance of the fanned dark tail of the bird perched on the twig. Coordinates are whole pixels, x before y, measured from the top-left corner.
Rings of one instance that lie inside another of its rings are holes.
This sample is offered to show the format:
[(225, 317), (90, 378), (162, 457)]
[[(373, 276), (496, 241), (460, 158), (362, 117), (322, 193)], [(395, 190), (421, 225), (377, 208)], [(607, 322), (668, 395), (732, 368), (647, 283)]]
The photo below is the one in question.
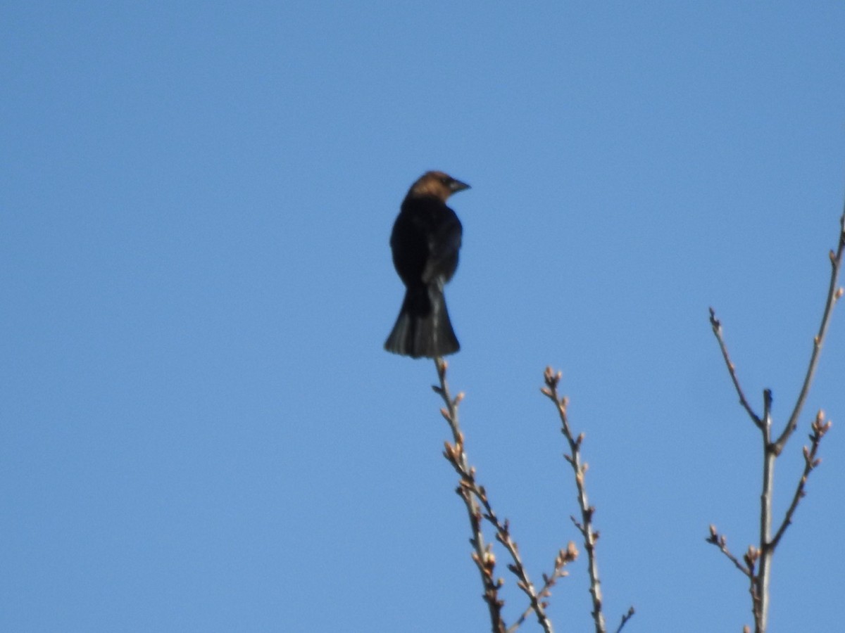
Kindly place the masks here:
[(438, 285), (406, 290), (402, 309), (384, 349), (412, 358), (436, 358), (461, 349), (449, 320), (443, 290)]

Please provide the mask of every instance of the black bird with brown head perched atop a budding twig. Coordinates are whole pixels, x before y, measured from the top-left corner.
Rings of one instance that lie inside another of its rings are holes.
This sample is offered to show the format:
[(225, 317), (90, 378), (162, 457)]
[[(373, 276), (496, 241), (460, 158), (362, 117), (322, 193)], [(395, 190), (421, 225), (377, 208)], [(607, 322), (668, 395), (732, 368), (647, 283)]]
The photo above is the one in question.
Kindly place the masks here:
[(412, 358), (439, 358), (461, 349), (443, 294), (458, 268), (463, 227), (446, 206), (466, 182), (427, 171), (408, 190), (390, 234), (393, 265), (405, 299), (384, 349)]

